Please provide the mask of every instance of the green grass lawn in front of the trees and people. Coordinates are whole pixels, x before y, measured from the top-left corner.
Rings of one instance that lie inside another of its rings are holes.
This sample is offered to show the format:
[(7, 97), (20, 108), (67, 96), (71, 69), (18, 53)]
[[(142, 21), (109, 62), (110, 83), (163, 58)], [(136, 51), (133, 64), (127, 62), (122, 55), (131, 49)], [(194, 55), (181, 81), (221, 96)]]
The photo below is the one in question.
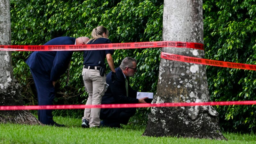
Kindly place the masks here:
[(228, 139), (208, 140), (176, 137), (141, 136), (144, 126), (123, 125), (115, 128), (82, 128), (80, 118), (54, 117), (66, 127), (0, 124), (0, 143), (16, 144), (255, 144), (254, 134), (224, 133)]

